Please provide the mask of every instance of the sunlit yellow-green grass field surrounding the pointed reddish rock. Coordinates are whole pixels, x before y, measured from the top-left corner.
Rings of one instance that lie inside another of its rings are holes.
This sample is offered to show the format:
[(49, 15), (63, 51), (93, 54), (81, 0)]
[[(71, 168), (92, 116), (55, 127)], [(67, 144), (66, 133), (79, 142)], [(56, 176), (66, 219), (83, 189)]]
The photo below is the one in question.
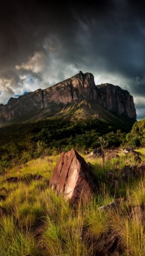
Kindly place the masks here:
[[(145, 161), (144, 152), (142, 149), (142, 161)], [(131, 216), (135, 206), (145, 204), (144, 178), (120, 182), (114, 189), (106, 173), (115, 172), (116, 159), (105, 161), (104, 165), (101, 158), (95, 159), (91, 163), (100, 189), (90, 202), (72, 207), (49, 188), (48, 180), (58, 158), (35, 159), (21, 167), (16, 165), (0, 176), (0, 195), (5, 196), (0, 200), (0, 255), (101, 255), (99, 250), (108, 246), (104, 242), (107, 237), (116, 237), (116, 247), (108, 247), (108, 252), (102, 255), (145, 255), (144, 222)], [(134, 164), (134, 157), (120, 153), (118, 168), (128, 163)], [(42, 179), (34, 180), (31, 174), (41, 175)], [(27, 179), (6, 181), (10, 177)], [(121, 196), (125, 200), (117, 209), (99, 209)]]

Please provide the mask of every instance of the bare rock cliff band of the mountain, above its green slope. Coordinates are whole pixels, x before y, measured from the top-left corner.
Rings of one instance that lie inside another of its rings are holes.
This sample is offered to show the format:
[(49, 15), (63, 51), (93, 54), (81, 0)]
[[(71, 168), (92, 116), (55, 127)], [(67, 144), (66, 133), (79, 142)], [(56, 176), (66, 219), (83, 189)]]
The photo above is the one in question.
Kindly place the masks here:
[(95, 86), (91, 73), (79, 72), (61, 83), (45, 90), (38, 89), (18, 97), (10, 98), (8, 104), (0, 104), (0, 124), (18, 120), (23, 116), (36, 115), (47, 109), (48, 116), (53, 116), (66, 104), (82, 100), (93, 100), (115, 115), (136, 119), (133, 97), (126, 90), (113, 84)]

